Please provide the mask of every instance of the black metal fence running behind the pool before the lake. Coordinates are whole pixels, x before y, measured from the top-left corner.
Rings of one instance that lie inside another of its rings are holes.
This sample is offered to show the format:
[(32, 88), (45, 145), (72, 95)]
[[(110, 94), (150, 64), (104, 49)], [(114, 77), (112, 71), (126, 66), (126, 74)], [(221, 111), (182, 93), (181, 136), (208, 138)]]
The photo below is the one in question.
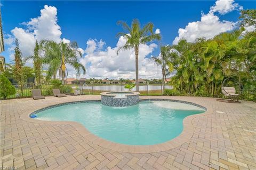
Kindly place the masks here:
[[(81, 95), (86, 94), (94, 94), (99, 95), (101, 92), (108, 91), (129, 91), (129, 89), (124, 88), (125, 84), (64, 84), (60, 86), (52, 85), (52, 84), (43, 84), (41, 86), (35, 86), (34, 84), (28, 84), (23, 87), (23, 94), (18, 87), (15, 85), (16, 93), (14, 95), (7, 96), (6, 99), (14, 99), (14, 98), (28, 98), (32, 96), (31, 90), (35, 88), (40, 88), (42, 95), (49, 96), (53, 95), (53, 88), (60, 88), (61, 93), (74, 95), (75, 93), (79, 93)], [(165, 85), (166, 89), (172, 89), (171, 85)], [(157, 96), (163, 95), (162, 93), (163, 86), (162, 84), (139, 84), (139, 92), (140, 95), (150, 95)], [(136, 87), (132, 88), (131, 91), (136, 91)]]

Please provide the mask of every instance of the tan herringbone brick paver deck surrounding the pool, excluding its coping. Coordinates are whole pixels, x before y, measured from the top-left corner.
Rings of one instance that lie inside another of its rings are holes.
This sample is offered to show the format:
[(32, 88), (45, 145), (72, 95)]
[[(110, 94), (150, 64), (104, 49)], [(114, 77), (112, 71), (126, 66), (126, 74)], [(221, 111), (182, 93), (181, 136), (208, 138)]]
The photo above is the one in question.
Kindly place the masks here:
[[(153, 97), (152, 97), (153, 98)], [(256, 103), (214, 98), (154, 97), (209, 106), (212, 114), (192, 119), (194, 133), (178, 147), (130, 153), (87, 140), (73, 124), (22, 118), (39, 108), (97, 95), (1, 101), (1, 165), (17, 169), (256, 169)], [(82, 131), (82, 129), (81, 129)]]

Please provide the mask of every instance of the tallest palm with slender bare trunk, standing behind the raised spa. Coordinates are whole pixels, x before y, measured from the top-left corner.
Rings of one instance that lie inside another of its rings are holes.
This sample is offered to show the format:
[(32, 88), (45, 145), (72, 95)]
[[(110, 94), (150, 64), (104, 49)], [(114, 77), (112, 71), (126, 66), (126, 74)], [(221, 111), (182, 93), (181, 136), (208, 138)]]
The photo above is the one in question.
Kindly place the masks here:
[(122, 25), (125, 33), (118, 33), (117, 37), (123, 36), (126, 39), (124, 46), (118, 49), (120, 50), (130, 50), (134, 49), (135, 52), (135, 72), (136, 72), (136, 91), (139, 91), (139, 45), (147, 44), (148, 42), (154, 40), (160, 40), (160, 34), (154, 34), (153, 23), (149, 22), (143, 28), (140, 27), (140, 22), (137, 19), (133, 19), (132, 26), (129, 27), (126, 22), (118, 21), (118, 25)]

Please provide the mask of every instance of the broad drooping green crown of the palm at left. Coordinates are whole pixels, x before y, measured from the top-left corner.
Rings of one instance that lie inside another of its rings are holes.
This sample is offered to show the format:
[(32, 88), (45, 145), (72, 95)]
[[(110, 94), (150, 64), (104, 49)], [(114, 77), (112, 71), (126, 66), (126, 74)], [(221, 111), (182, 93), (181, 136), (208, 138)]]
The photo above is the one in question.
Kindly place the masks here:
[(57, 72), (59, 72), (59, 77), (63, 83), (66, 76), (68, 76), (66, 64), (70, 64), (76, 70), (77, 75), (81, 74), (81, 70), (83, 75), (85, 74), (85, 67), (77, 59), (77, 55), (82, 58), (82, 53), (77, 50), (78, 45), (76, 42), (56, 43), (54, 41), (43, 40), (40, 45), (45, 55), (43, 62), (49, 64), (46, 76), (47, 80), (52, 76), (55, 78)]

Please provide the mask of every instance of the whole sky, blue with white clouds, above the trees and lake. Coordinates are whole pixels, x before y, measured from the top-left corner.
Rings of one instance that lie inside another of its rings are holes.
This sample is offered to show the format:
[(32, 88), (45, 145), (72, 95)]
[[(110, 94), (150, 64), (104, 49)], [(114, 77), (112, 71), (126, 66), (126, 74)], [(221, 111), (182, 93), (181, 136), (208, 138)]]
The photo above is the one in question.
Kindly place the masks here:
[[(14, 59), (15, 38), (23, 57), (32, 55), (35, 42), (51, 39), (56, 42), (76, 41), (86, 68), (86, 75), (94, 78), (134, 78), (133, 50), (121, 51), (124, 37), (117, 21), (131, 25), (134, 18), (141, 26), (154, 23), (154, 31), (161, 34), (158, 42), (140, 45), (139, 77), (159, 78), (161, 68), (151, 56), (159, 56), (159, 46), (177, 44), (180, 39), (194, 42), (237, 28), (239, 11), (255, 9), (255, 1), (1, 1), (6, 62)], [(32, 61), (26, 63), (33, 66)], [(47, 69), (47, 66), (44, 66)], [(76, 77), (67, 66), (68, 77)]]

